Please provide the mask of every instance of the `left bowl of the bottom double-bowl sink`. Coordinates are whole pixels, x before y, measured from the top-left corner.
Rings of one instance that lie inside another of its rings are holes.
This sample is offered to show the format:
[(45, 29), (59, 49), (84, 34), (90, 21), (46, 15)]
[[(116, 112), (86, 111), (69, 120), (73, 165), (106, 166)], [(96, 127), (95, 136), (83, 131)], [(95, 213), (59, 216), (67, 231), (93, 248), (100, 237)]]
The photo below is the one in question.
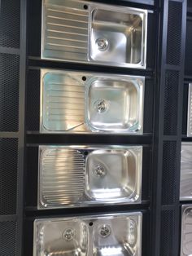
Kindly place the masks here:
[(35, 221), (35, 229), (33, 255), (88, 255), (89, 230), (81, 219)]

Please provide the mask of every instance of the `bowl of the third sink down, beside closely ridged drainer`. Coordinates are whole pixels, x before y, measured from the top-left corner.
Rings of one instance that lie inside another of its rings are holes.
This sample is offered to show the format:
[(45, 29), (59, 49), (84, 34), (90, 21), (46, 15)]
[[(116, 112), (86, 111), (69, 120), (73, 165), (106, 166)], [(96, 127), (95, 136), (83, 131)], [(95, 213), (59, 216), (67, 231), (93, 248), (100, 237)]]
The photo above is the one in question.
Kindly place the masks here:
[(99, 149), (86, 159), (85, 192), (96, 201), (130, 197), (136, 185), (136, 158), (131, 150)]

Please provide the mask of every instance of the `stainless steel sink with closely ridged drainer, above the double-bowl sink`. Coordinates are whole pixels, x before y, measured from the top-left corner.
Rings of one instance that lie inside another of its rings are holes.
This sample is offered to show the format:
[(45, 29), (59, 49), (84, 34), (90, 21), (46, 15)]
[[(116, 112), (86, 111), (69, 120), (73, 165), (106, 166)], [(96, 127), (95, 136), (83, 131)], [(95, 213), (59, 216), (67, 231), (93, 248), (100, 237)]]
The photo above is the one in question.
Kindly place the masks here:
[(142, 146), (40, 146), (38, 209), (141, 201)]

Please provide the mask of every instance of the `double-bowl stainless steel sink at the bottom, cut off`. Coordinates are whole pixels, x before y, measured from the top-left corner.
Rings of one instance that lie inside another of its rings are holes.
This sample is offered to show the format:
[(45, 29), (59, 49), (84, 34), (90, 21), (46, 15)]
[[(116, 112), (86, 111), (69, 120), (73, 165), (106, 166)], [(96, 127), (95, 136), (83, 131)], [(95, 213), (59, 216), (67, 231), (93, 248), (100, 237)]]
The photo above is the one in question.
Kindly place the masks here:
[(33, 256), (141, 256), (142, 213), (34, 222)]

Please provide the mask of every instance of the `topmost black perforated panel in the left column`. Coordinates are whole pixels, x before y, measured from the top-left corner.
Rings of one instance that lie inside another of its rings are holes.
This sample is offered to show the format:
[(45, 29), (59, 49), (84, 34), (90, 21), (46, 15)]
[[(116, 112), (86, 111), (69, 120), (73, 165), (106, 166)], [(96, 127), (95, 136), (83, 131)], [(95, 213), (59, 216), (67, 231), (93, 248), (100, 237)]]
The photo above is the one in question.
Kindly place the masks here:
[(20, 47), (20, 1), (0, 2), (0, 46)]

